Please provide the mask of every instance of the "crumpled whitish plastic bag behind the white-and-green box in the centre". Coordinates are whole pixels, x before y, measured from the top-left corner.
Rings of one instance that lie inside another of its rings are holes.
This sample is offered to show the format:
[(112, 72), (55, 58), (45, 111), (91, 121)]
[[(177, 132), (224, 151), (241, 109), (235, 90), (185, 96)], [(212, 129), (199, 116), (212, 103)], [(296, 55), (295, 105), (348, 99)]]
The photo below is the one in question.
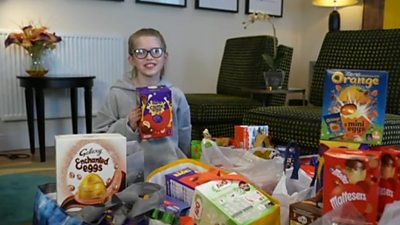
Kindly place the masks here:
[(267, 193), (272, 193), (282, 176), (283, 158), (263, 159), (244, 149), (220, 147), (212, 140), (202, 141), (201, 161), (247, 177)]

